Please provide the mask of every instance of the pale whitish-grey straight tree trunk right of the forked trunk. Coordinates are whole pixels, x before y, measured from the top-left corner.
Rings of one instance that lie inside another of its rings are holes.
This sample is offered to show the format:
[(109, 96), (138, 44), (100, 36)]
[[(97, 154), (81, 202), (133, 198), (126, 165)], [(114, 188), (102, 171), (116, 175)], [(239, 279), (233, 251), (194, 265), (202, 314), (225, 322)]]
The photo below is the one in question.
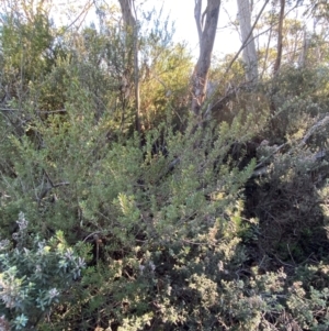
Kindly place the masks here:
[(242, 38), (242, 58), (246, 65), (247, 80), (257, 82), (258, 80), (258, 57), (256, 52), (254, 38), (251, 27), (251, 11), (249, 0), (237, 0), (240, 32)]

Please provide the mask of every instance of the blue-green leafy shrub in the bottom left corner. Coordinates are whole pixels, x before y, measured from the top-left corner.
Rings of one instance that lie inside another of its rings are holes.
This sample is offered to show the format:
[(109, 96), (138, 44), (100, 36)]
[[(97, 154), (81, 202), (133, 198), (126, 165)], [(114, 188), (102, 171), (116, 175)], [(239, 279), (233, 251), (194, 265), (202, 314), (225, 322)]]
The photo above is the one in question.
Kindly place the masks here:
[(50, 313), (86, 263), (66, 244), (63, 232), (48, 241), (31, 235), (22, 212), (16, 223), (14, 246), (1, 241), (0, 313), (8, 328), (27, 330)]

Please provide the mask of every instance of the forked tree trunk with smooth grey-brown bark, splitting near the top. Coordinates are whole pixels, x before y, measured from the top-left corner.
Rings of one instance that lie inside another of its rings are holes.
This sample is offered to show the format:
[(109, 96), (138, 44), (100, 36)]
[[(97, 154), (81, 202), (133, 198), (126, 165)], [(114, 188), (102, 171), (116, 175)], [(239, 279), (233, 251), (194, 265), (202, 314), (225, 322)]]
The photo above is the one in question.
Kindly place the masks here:
[(201, 108), (206, 97), (208, 71), (218, 24), (220, 0), (207, 0), (202, 13), (202, 0), (195, 0), (194, 18), (198, 33), (200, 55), (193, 73), (192, 112), (197, 121), (202, 120)]

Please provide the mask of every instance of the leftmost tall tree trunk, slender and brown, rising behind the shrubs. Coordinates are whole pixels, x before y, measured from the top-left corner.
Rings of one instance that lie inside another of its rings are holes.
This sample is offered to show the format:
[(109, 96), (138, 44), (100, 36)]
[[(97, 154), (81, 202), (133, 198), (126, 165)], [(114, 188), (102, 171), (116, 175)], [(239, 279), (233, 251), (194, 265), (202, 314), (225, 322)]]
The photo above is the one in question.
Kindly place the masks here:
[[(139, 68), (138, 68), (138, 23), (134, 0), (118, 0), (124, 25), (127, 33), (127, 47), (133, 47), (133, 57), (128, 58), (128, 66), (134, 68), (135, 84), (135, 126), (140, 132), (140, 98), (139, 98)], [(127, 77), (128, 79), (131, 77)]]

